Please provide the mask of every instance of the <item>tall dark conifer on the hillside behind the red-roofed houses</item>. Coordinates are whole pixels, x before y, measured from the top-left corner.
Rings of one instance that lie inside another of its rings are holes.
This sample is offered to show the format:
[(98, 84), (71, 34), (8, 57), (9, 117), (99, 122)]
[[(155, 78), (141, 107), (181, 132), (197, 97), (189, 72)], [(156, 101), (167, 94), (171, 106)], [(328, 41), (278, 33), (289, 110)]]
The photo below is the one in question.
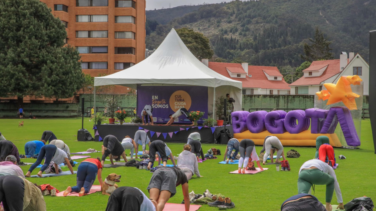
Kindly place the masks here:
[(333, 59), (333, 53), (331, 52), (332, 49), (329, 48), (329, 45), (332, 43), (331, 41), (328, 41), (328, 38), (324, 38), (323, 32), (320, 32), (318, 30), (318, 27), (315, 31), (315, 37), (314, 40), (309, 38), (309, 41), (312, 42), (311, 45), (304, 44), (303, 50), (305, 56), (300, 54), (300, 57), (303, 60), (306, 60), (308, 62), (313, 62), (316, 60), (329, 60)]

